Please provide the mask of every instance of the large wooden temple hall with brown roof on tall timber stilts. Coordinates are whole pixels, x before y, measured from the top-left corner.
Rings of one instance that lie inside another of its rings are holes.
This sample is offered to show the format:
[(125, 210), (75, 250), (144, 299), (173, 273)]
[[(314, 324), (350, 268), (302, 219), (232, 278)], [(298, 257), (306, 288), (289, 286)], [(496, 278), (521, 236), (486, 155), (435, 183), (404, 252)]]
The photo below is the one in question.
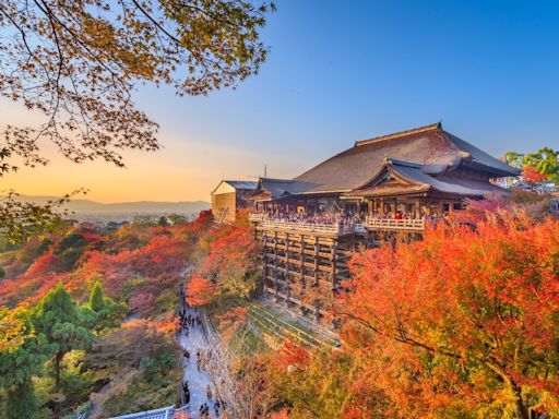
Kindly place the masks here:
[(347, 261), (426, 224), (466, 199), (507, 192), (492, 179), (519, 170), (444, 131), (441, 123), (358, 141), (294, 179), (261, 178), (248, 201), (262, 242), (264, 291), (320, 319), (320, 298), (348, 278)]

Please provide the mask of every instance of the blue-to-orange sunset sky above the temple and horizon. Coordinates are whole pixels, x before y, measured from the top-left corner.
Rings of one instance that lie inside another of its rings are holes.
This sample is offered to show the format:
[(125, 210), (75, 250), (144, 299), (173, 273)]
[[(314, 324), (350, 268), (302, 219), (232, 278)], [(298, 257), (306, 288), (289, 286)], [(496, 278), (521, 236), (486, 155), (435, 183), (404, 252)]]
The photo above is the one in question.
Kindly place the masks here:
[[(442, 121), (499, 156), (559, 147), (559, 2), (277, 0), (271, 53), (236, 91), (178, 98), (139, 88), (164, 148), (127, 168), (22, 168), (0, 189), (102, 202), (210, 200), (222, 178), (294, 177), (357, 140)], [(0, 127), (39, 123), (0, 100)]]

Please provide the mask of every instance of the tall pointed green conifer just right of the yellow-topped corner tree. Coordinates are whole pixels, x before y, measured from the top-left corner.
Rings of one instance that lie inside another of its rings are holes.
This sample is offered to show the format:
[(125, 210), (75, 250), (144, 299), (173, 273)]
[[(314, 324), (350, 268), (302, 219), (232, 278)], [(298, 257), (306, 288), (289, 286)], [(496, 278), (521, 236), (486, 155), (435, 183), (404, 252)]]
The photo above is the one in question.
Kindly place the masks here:
[(73, 349), (86, 349), (92, 344), (93, 335), (83, 323), (80, 311), (62, 283), (58, 283), (34, 310), (35, 331), (39, 338), (49, 344), (57, 393), (60, 391), (60, 369), (64, 355)]

